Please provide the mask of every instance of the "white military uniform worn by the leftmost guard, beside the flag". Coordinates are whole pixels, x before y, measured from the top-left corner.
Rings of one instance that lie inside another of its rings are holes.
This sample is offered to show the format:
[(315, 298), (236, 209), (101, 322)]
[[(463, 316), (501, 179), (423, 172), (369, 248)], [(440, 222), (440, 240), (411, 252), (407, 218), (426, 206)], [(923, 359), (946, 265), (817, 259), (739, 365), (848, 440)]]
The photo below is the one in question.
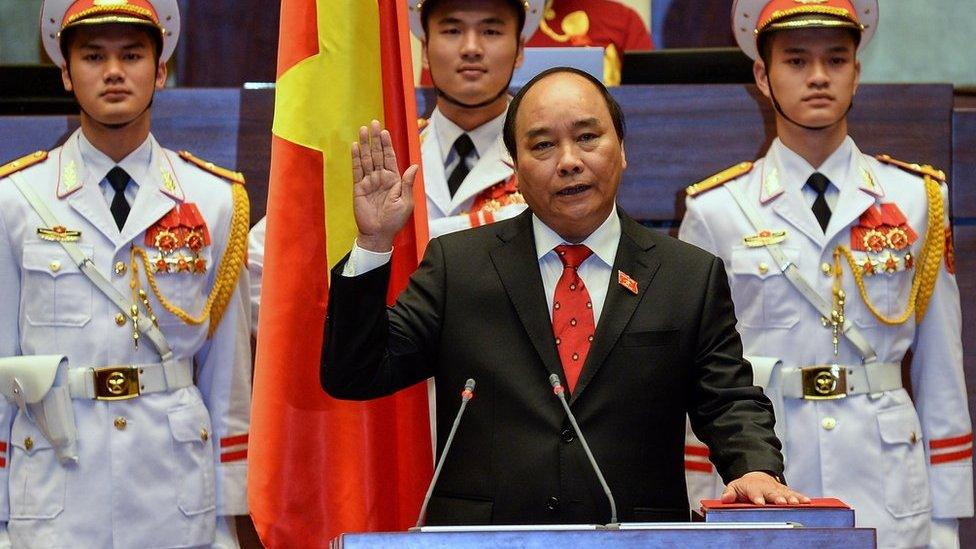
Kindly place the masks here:
[[(45, 224), (13, 178), (29, 183), (67, 230), (80, 231), (78, 245), (124, 296), (131, 295), (130, 247), (145, 248), (152, 257), (146, 230), (177, 205), (195, 204), (210, 236), (200, 251), (206, 272), (155, 276), (175, 305), (193, 315), (203, 308), (227, 246), (231, 183), (150, 136), (119, 163), (135, 183), (129, 185), (134, 201), (120, 234), (103, 190), (114, 164), (79, 130), (46, 161), (0, 179), (0, 356), (66, 355), (72, 370), (160, 362), (147, 338), (135, 348), (132, 322), (116, 318), (118, 308), (62, 246), (39, 237)], [(142, 265), (139, 273), (159, 329), (193, 383), (128, 400), (73, 397), (78, 461), (68, 465), (4, 401), (0, 520), (9, 520), (15, 547), (210, 545), (217, 515), (247, 513), (246, 272), (211, 338), (207, 321), (189, 326), (166, 311), (145, 283)]]

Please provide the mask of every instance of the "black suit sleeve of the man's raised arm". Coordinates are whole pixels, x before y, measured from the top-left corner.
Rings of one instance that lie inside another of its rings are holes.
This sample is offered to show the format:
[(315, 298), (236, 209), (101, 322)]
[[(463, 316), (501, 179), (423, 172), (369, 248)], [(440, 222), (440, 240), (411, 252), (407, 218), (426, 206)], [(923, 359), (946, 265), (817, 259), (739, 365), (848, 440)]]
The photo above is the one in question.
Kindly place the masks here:
[(390, 264), (342, 276), (332, 270), (325, 321), (322, 387), (335, 398), (386, 396), (434, 375), (444, 307), (444, 254), (434, 239), (407, 288), (386, 307)]

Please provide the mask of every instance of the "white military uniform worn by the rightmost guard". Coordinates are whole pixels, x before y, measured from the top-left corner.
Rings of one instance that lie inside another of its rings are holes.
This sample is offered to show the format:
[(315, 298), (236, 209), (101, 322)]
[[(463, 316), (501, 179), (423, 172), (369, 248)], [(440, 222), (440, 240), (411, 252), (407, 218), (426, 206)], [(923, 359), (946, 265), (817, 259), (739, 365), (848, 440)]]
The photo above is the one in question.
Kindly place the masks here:
[[(928, 225), (929, 201), (922, 179), (862, 154), (848, 137), (816, 170), (839, 188), (833, 199), (827, 194), (828, 202), (835, 204), (824, 234), (810, 208), (815, 195), (804, 196), (808, 190), (802, 190), (814, 171), (776, 139), (765, 159), (748, 173), (689, 197), (679, 236), (723, 258), (745, 354), (780, 361), (771, 370), (757, 371), (756, 383), (767, 386), (775, 406), (790, 486), (853, 506), (858, 526), (877, 528), (879, 547), (925, 546), (932, 518), (973, 514), (972, 428), (962, 370), (959, 291), (947, 270), (951, 259), (939, 262), (921, 324), (911, 315), (893, 326), (882, 324), (869, 311), (844, 262), (846, 317), (868, 340), (879, 362), (894, 363), (889, 373), (912, 352), (913, 398), (902, 388), (833, 400), (796, 398), (796, 368), (836, 363), (863, 371), (862, 356), (843, 336), (834, 356), (832, 330), (821, 324), (821, 315), (780, 272), (769, 250), (746, 245), (744, 238), (758, 231), (730, 190), (740, 191), (758, 210), (768, 223), (765, 229), (785, 231), (782, 250), (828, 301), (834, 249), (854, 249), (852, 229), (863, 223), (862, 215), (869, 209), (897, 206), (917, 240), (900, 250), (886, 246), (879, 253), (853, 252), (859, 264), (867, 269), (870, 263), (875, 271), (865, 274), (864, 284), (870, 300), (888, 317), (906, 308), (915, 268), (922, 264)], [(944, 185), (941, 191), (945, 199)], [(907, 253), (919, 260), (906, 268)], [(700, 444), (689, 443), (692, 450)], [(689, 477), (704, 474), (688, 471)], [(708, 483), (701, 478), (697, 482)], [(713, 490), (714, 486), (721, 482)], [(717, 495), (691, 497), (697, 501)]]

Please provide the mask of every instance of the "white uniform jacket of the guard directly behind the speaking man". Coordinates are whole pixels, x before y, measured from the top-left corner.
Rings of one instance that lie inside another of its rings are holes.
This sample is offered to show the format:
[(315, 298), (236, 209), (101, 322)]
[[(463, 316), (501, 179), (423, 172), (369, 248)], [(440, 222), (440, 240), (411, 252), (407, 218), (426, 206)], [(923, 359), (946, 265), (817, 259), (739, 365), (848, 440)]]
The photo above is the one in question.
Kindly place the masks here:
[[(504, 124), (502, 113), (467, 132), (478, 158), (473, 165), (469, 161), (471, 171), (452, 197), (447, 179), (458, 161), (452, 147), (464, 130), (448, 120), (440, 109), (434, 109), (427, 127), (420, 133), (431, 238), (515, 217), (525, 209), (514, 184), (512, 159), (502, 141)], [(498, 196), (484, 196), (493, 187)], [(472, 207), (476, 209), (472, 211)]]

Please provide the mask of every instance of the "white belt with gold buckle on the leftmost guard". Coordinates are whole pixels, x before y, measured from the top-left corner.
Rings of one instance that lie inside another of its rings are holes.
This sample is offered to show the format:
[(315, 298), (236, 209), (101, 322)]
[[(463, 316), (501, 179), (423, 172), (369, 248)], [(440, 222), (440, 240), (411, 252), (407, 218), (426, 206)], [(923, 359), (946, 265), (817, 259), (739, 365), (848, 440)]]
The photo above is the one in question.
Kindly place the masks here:
[(189, 359), (68, 370), (71, 398), (76, 399), (126, 400), (190, 385), (193, 385), (193, 363)]

